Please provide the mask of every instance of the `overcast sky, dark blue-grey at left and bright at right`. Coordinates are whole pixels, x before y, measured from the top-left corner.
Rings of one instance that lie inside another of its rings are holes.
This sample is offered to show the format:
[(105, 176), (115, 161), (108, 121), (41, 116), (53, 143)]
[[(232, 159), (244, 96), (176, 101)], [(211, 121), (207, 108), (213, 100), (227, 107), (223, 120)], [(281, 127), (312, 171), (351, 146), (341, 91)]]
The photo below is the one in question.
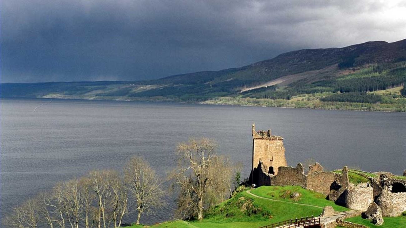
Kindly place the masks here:
[(145, 80), (406, 39), (406, 0), (1, 0), (1, 82)]

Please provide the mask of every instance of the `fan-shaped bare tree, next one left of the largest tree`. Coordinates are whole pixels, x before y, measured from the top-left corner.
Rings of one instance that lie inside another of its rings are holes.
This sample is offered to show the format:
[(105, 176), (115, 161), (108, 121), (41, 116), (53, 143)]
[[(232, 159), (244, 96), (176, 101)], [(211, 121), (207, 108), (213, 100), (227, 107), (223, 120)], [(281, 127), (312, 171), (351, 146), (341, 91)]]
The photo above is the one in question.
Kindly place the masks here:
[(127, 162), (124, 180), (135, 198), (138, 225), (143, 213), (151, 213), (153, 208), (162, 206), (164, 191), (161, 189), (161, 181), (142, 157), (132, 157)]

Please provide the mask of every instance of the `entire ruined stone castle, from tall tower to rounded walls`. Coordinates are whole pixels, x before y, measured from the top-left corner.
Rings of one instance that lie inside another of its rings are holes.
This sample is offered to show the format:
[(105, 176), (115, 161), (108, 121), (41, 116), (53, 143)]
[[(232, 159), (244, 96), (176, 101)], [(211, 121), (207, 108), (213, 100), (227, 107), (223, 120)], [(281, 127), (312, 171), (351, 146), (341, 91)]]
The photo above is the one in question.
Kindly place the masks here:
[[(326, 199), (349, 209), (362, 211), (363, 216), (383, 222), (382, 216), (399, 216), (406, 211), (406, 179), (388, 172), (377, 172), (376, 176), (358, 170), (356, 174), (367, 179), (367, 183), (350, 183), (346, 166), (341, 171), (326, 172), (319, 163), (309, 166), (304, 174), (301, 163), (294, 168), (287, 166), (285, 148), (281, 136), (272, 136), (271, 131), (255, 131), (253, 135), (253, 163), (250, 184), (298, 185), (324, 194)], [(406, 176), (406, 170), (404, 170)]]

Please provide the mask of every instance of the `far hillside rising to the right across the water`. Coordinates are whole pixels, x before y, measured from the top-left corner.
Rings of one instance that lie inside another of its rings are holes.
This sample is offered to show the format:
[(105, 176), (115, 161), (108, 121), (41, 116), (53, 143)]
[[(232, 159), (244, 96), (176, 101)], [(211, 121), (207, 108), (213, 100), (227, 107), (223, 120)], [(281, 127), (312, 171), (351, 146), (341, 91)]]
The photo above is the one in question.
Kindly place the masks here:
[(2, 97), (175, 101), (406, 112), (406, 39), (303, 49), (158, 80), (1, 84)]

